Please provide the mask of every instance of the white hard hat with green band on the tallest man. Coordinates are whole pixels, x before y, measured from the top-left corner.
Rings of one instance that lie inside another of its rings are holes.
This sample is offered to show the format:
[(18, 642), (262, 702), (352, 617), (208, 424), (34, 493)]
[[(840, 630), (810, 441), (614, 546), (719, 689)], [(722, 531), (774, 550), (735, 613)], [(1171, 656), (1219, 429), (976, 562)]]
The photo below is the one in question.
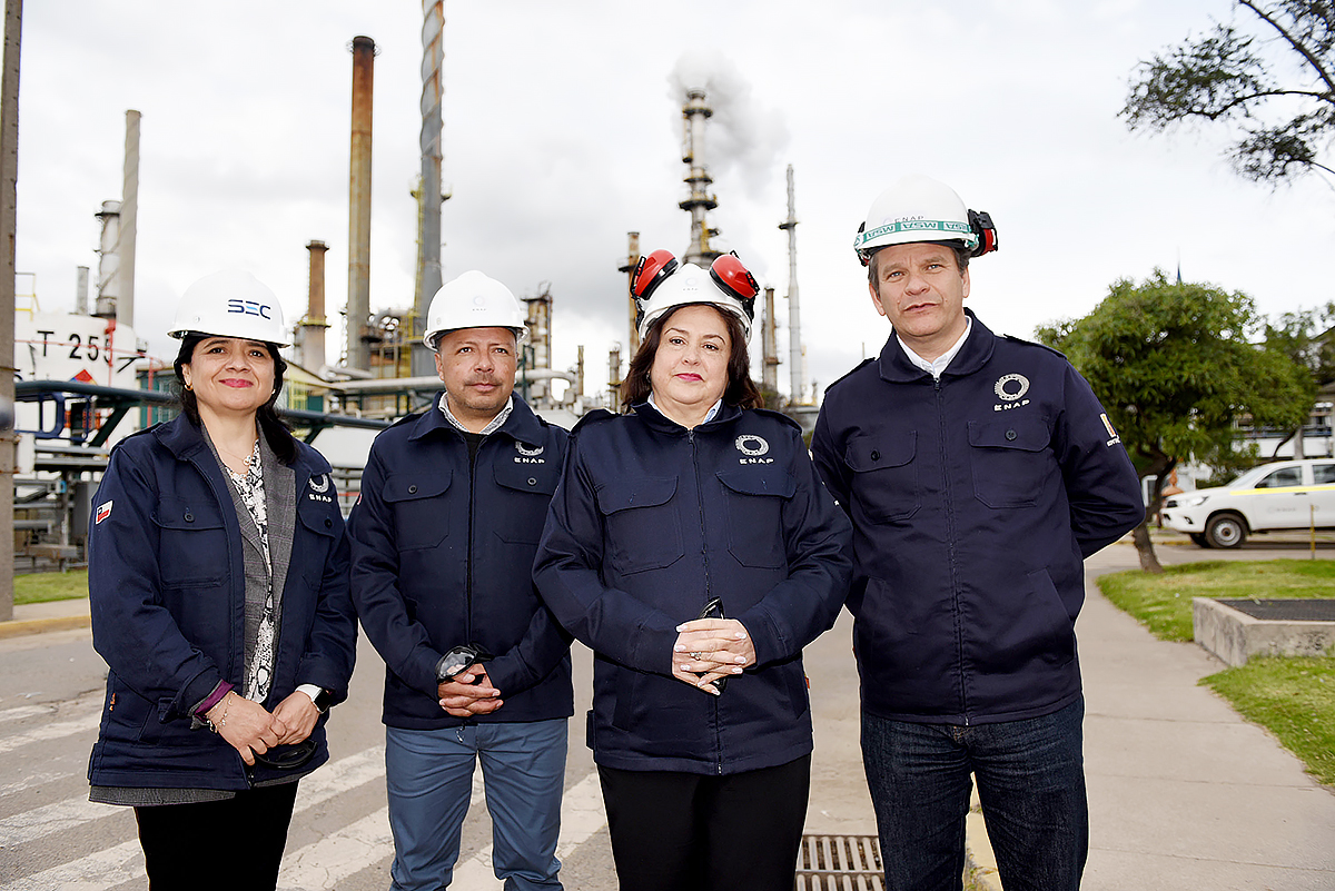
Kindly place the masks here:
[(945, 183), (905, 176), (872, 201), (853, 239), (862, 265), (880, 248), (914, 241), (947, 241), (981, 256), (997, 249), (996, 227), (987, 213), (964, 207)]

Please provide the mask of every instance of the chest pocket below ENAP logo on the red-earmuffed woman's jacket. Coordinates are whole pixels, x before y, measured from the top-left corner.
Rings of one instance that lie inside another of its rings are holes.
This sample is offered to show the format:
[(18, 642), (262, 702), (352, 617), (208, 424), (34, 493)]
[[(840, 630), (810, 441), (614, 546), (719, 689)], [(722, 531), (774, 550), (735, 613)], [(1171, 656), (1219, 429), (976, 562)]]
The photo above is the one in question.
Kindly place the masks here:
[(788, 566), (784, 542), (784, 504), (797, 482), (777, 466), (725, 471), (724, 508), (728, 512), (728, 552), (749, 567)]

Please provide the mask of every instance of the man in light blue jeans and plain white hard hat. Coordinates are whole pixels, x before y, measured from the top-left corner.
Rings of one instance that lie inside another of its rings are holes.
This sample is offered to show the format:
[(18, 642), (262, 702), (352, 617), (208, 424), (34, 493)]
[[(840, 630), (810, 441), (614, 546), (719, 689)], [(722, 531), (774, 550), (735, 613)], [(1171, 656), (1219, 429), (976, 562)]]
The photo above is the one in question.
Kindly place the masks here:
[(449, 887), (481, 759), (506, 888), (559, 888), (570, 638), (533, 586), (567, 433), (514, 395), (519, 301), (465, 272), (427, 311), (445, 384), (375, 439), (348, 518), (352, 598), (384, 658), (392, 887)]

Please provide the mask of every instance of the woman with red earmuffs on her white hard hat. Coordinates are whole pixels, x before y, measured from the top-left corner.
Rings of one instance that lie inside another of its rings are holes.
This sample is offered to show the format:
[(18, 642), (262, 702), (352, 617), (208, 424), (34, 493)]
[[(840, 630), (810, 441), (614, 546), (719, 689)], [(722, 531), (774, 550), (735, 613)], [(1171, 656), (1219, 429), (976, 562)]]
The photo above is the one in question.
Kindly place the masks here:
[(757, 284), (645, 257), (626, 415), (573, 431), (534, 567), (597, 654), (589, 746), (621, 887), (788, 891), (810, 782), (802, 647), (846, 596), (849, 523), (760, 408)]

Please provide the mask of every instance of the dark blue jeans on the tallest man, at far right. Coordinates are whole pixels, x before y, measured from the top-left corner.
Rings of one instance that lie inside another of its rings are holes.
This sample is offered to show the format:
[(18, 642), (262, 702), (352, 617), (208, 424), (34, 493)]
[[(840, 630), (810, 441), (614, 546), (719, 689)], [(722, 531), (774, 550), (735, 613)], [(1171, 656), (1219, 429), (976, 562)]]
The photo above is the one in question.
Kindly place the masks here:
[(862, 763), (886, 891), (959, 890), (979, 780), (1007, 891), (1077, 891), (1089, 851), (1084, 700), (997, 724), (914, 724), (862, 712)]

